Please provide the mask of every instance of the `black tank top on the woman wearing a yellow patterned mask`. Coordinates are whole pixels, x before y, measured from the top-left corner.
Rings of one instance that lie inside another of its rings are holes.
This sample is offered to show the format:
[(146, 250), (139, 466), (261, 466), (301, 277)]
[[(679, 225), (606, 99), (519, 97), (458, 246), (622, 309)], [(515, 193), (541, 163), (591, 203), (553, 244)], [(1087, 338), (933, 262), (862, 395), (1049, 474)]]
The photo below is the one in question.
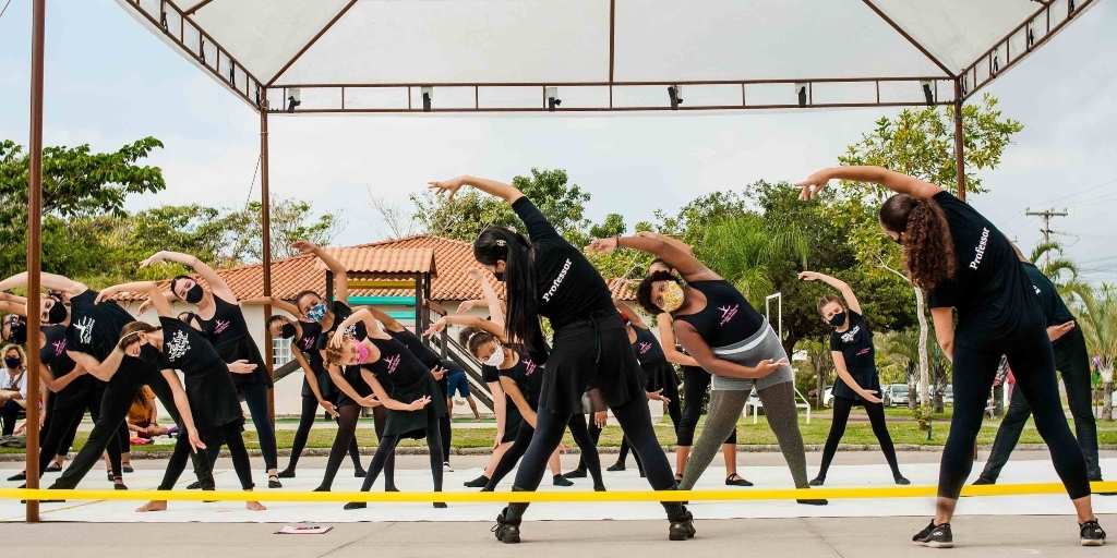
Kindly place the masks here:
[(694, 326), (710, 347), (743, 341), (764, 325), (764, 316), (729, 281), (695, 281), (687, 286), (706, 296), (706, 308), (696, 314), (672, 315), (672, 318)]

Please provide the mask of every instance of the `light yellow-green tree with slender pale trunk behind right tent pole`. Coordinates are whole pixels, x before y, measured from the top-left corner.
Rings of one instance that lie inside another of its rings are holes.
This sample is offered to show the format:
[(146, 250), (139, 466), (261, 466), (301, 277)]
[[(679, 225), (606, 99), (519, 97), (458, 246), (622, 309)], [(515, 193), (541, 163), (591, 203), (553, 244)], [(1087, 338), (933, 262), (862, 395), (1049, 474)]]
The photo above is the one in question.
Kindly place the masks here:
[[(842, 165), (884, 166), (957, 193), (953, 122), (953, 107), (908, 109), (896, 118), (880, 118), (876, 128), (862, 134), (861, 141), (850, 145), (838, 161)], [(1003, 117), (996, 108), (996, 98), (989, 94), (981, 103), (963, 107), (962, 125), (966, 191), (980, 194), (986, 190), (982, 186), (977, 172), (995, 169), (1001, 163), (1004, 150), (1011, 144), (1012, 136), (1023, 129), (1023, 126)], [(870, 266), (873, 273), (892, 273), (906, 281), (907, 276), (898, 271), (903, 268), (900, 250), (880, 233), (877, 222), (880, 204), (891, 192), (876, 184), (847, 182), (842, 186), (830, 193), (834, 202), (830, 205), (831, 219), (852, 225), (849, 242), (852, 243), (857, 258)], [(920, 343), (917, 346), (920, 350), (920, 394), (924, 402), (929, 402), (929, 362), (926, 353), (929, 325), (924, 308), (924, 294), (914, 287), (911, 290), (919, 323)]]

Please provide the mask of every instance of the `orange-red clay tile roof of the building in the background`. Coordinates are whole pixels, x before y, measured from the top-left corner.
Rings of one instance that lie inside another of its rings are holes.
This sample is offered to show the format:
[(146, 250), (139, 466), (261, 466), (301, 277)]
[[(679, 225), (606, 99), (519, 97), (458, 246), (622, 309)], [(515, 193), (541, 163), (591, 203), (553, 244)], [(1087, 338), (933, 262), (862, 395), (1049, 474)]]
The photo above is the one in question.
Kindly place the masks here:
[[(431, 272), (432, 300), (470, 300), (481, 298), (480, 287), (469, 279), (469, 268), (480, 268), (474, 260), (474, 248), (469, 242), (451, 240), (433, 234), (420, 234), (403, 239), (385, 240), (369, 244), (344, 248), (327, 248), (335, 258), (347, 266), (361, 279), (409, 278), (416, 272)], [(427, 262), (427, 263), (424, 263)], [(271, 262), (271, 294), (292, 300), (303, 290), (312, 289), (324, 294), (326, 288), (325, 266), (312, 254), (295, 256)], [(229, 285), (239, 299), (264, 296), (264, 266), (250, 263), (230, 269), (219, 269), (218, 275)], [(485, 278), (504, 296), (504, 285), (488, 271)], [(352, 279), (353, 277), (351, 277)], [(204, 283), (204, 281), (202, 281)], [(614, 297), (622, 300), (636, 299), (638, 281), (611, 279), (609, 288)], [(170, 281), (162, 281), (163, 290), (170, 290)], [(351, 289), (350, 296), (407, 297), (414, 289)], [(143, 300), (144, 294), (122, 294), (117, 300)], [(448, 308), (454, 311), (454, 308)]]

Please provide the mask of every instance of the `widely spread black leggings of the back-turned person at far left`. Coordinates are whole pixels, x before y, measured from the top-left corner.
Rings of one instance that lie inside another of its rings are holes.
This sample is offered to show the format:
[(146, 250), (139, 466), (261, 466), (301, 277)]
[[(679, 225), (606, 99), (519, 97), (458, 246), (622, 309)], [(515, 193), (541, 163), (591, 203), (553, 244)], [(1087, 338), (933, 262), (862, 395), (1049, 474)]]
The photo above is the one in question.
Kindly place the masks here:
[[(134, 360), (134, 359), (133, 359)], [(140, 388), (146, 384), (151, 387), (151, 391), (155, 393), (159, 401), (163, 404), (163, 408), (166, 410), (171, 419), (179, 426), (179, 432), (182, 436), (187, 435), (187, 429), (182, 424), (182, 420), (179, 416), (179, 410), (174, 406), (174, 395), (171, 393), (171, 386), (168, 385), (166, 379), (157, 371), (151, 369), (149, 373), (135, 369), (139, 368), (134, 362), (126, 362), (122, 365), (121, 369), (116, 372), (113, 379), (105, 387), (104, 396), (99, 401), (98, 411), (101, 416), (96, 419), (96, 423), (93, 426), (93, 432), (89, 433), (89, 439), (86, 440), (85, 445), (82, 446), (82, 451), (74, 458), (70, 465), (66, 468), (61, 477), (58, 478), (50, 485), (50, 488), (56, 489), (73, 489), (77, 488), (77, 484), (82, 482), (82, 479), (93, 469), (93, 465), (97, 463), (101, 459), (102, 452), (106, 448), (109, 449), (108, 458), (113, 459), (112, 446), (116, 448), (116, 462), (114, 468), (120, 470), (120, 439), (116, 433), (118, 429), (123, 425), (124, 419), (128, 414), (128, 408), (132, 407), (132, 402), (135, 400), (136, 393)], [(128, 369), (125, 369), (128, 368)], [(90, 408), (92, 412), (92, 408)], [(52, 453), (55, 450), (50, 450)], [(206, 459), (203, 452), (190, 454), (191, 462), (194, 466), (194, 474), (198, 477), (198, 481), (201, 482), (202, 488), (213, 485), (213, 475), (209, 466), (209, 460)], [(45, 461), (40, 458), (39, 466), (42, 468)], [(40, 473), (41, 474), (41, 473)]]

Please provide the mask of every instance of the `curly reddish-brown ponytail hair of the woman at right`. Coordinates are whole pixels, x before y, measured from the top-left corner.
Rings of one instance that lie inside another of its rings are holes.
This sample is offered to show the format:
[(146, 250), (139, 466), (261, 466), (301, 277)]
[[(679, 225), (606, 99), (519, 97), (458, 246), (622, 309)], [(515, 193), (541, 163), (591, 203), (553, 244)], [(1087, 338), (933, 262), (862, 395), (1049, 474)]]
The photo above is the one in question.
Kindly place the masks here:
[(954, 277), (954, 240), (937, 202), (896, 194), (880, 206), (880, 223), (903, 233), (900, 243), (913, 285), (929, 290)]

